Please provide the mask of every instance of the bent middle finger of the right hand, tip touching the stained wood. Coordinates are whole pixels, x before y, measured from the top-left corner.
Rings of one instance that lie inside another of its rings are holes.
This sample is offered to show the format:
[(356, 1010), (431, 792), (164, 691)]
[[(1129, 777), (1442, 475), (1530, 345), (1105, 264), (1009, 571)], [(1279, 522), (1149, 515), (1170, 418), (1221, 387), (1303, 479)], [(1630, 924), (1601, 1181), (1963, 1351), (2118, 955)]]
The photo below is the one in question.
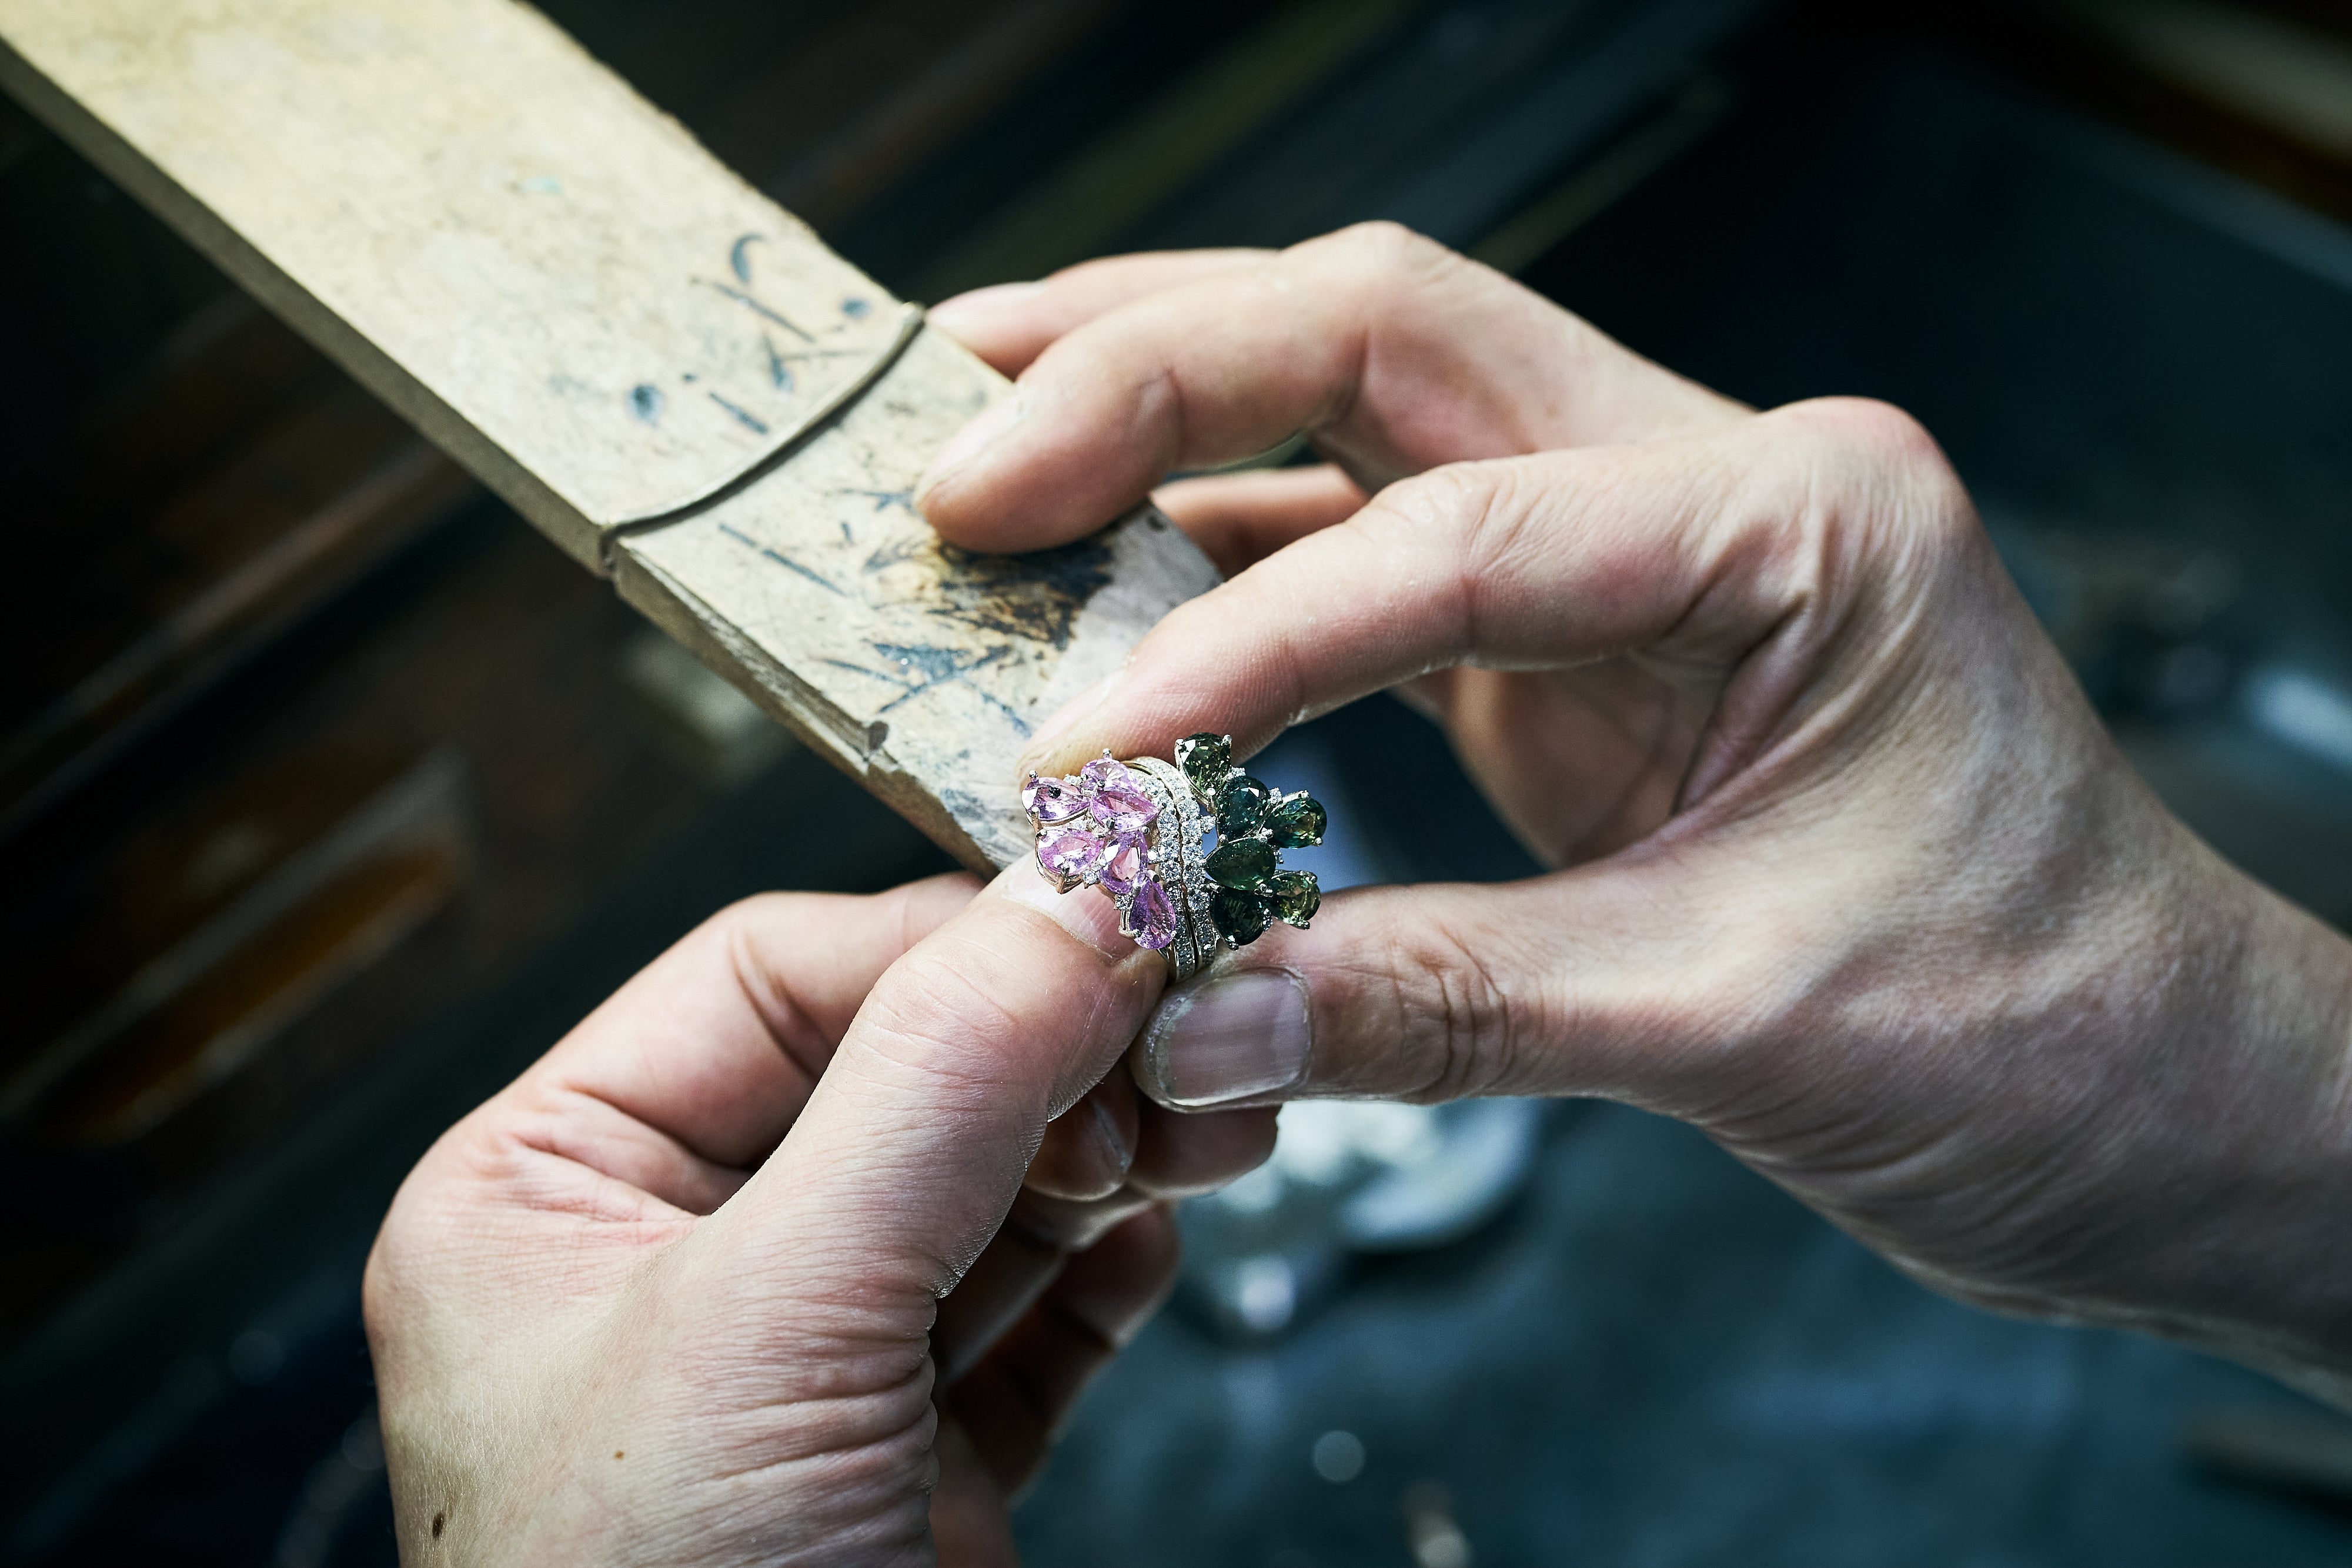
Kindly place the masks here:
[[(1049, 315), (1056, 287), (1021, 313)], [(1743, 409), (1392, 223), (1209, 268), (1061, 336), (917, 505), (974, 550), (1091, 534), (1178, 468), (1310, 435), (1367, 491), (1465, 458), (1691, 435)]]

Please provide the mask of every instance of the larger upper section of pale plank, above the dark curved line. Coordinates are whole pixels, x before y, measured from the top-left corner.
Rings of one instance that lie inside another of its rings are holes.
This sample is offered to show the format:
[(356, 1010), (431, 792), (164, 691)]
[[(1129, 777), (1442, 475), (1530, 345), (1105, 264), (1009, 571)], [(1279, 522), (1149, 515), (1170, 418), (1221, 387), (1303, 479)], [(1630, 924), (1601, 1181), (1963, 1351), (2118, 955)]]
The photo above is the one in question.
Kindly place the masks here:
[(0, 82), (581, 559), (779, 451), (882, 289), (506, 0), (0, 0)]

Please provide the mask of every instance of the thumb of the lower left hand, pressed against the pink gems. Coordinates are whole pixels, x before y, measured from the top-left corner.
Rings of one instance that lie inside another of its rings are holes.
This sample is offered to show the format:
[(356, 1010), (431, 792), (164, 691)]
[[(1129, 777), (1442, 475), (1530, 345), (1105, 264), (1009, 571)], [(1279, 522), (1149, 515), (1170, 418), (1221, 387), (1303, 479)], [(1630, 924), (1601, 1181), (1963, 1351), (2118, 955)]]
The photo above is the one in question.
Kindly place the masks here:
[[(920, 1356), (1047, 1121), (1101, 1081), (1160, 994), (1164, 959), (1117, 919), (1021, 860), (901, 957), (793, 1131), (694, 1234), (713, 1316), (769, 1347)], [(779, 1371), (823, 1380), (790, 1359)]]

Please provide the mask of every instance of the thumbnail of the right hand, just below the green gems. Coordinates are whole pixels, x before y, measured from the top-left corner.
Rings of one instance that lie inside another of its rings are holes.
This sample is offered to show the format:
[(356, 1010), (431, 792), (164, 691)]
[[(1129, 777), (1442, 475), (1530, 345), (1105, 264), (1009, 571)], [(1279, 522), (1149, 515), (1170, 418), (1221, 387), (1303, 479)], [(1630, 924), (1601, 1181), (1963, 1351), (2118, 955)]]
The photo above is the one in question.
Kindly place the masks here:
[(1209, 976), (1160, 1001), (1143, 1088), (1162, 1105), (1223, 1105), (1289, 1088), (1308, 1070), (1308, 987), (1289, 969)]

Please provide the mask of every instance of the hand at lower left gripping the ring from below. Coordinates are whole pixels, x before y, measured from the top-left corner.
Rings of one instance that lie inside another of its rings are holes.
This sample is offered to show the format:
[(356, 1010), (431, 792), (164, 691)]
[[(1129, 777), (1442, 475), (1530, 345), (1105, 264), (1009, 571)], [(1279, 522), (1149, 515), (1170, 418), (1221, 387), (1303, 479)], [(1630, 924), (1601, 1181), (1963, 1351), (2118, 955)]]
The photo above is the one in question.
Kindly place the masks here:
[(1272, 1147), (1105, 1079), (1162, 978), (1030, 867), (687, 936), (393, 1201), (402, 1561), (1011, 1563), (1007, 1495), (1171, 1284), (1164, 1201)]

